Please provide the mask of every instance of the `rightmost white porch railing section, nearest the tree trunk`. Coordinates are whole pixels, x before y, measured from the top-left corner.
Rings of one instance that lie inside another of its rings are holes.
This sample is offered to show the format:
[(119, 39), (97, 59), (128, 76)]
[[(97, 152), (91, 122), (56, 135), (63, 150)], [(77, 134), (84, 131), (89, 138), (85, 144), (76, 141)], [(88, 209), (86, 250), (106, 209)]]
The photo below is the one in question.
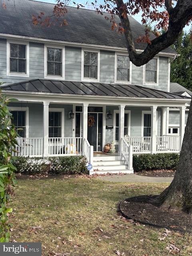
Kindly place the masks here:
[(180, 136), (156, 137), (157, 152), (180, 152)]

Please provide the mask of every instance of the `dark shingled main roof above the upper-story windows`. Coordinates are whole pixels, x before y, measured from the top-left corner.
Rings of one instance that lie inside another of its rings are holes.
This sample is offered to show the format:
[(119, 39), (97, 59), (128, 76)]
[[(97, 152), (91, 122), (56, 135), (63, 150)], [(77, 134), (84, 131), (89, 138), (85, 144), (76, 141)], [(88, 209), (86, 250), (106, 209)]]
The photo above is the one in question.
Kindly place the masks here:
[[(108, 13), (101, 16), (93, 10), (78, 10), (74, 7), (68, 7), (68, 13), (62, 17), (62, 19), (67, 20), (68, 25), (61, 27), (56, 24), (56, 26), (48, 28), (46, 26), (34, 26), (32, 14), (37, 16), (40, 12), (44, 12), (45, 16), (52, 15), (54, 4), (32, 0), (9, 0), (6, 1), (6, 7), (6, 10), (0, 8), (0, 33), (126, 48), (124, 35), (112, 31), (111, 23), (104, 18), (104, 16), (110, 18)], [(139, 36), (145, 34), (144, 26), (132, 17), (129, 17), (129, 20), (136, 49), (144, 50), (146, 44), (136, 42)], [(116, 22), (120, 23), (118, 16)], [(151, 39), (153, 38), (154, 35), (152, 34)], [(163, 52), (176, 53), (171, 48), (167, 48)]]

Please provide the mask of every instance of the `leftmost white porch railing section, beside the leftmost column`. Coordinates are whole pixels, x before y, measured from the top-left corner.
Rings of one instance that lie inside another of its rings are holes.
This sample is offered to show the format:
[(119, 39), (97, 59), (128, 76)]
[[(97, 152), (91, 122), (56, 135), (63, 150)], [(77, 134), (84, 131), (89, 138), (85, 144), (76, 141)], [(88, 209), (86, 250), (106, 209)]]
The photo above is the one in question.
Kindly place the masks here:
[(42, 156), (43, 138), (16, 138), (18, 145), (15, 146), (17, 152), (12, 152), (13, 156)]

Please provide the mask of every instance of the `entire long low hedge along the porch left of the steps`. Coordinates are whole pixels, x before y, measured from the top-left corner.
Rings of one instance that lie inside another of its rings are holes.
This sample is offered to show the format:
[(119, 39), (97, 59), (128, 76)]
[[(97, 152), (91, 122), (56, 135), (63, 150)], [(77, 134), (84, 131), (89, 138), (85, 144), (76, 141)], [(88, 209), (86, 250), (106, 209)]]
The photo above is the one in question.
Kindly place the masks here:
[(87, 160), (84, 156), (59, 156), (48, 158), (14, 157), (14, 166), (21, 174), (79, 174), (86, 173)]

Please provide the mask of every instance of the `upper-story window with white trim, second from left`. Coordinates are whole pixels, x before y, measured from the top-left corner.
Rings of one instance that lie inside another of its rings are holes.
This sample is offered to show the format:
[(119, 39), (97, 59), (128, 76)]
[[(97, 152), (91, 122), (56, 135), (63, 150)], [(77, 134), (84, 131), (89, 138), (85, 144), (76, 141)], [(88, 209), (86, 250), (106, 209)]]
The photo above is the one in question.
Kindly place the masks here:
[(45, 46), (45, 72), (46, 78), (64, 78), (64, 48)]

